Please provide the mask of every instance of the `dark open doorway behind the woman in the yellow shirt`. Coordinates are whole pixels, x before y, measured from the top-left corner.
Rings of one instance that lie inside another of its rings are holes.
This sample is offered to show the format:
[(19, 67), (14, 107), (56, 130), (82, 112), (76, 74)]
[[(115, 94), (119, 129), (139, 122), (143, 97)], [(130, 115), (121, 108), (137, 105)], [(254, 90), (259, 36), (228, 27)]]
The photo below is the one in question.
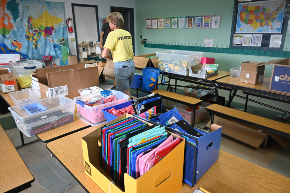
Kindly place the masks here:
[(132, 35), (133, 53), (135, 55), (135, 33), (134, 33), (134, 9), (123, 7), (111, 7), (111, 13), (119, 12), (124, 18), (123, 30), (130, 32)]

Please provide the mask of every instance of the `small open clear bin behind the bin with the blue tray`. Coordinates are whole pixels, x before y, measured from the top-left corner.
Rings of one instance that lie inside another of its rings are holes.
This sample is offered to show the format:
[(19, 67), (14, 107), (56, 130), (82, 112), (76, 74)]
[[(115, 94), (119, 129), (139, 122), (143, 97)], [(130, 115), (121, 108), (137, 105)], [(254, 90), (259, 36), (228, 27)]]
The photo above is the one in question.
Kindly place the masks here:
[(39, 95), (30, 89), (12, 92), (9, 93), (9, 95), (12, 98), (14, 105), (25, 104), (35, 100), (39, 100)]

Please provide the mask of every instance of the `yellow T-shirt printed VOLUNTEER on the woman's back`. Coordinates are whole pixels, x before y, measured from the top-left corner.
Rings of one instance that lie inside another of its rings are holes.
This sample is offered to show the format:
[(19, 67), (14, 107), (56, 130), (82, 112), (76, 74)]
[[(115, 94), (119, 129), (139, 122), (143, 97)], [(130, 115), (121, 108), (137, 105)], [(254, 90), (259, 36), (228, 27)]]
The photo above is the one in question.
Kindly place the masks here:
[(113, 61), (127, 61), (133, 58), (132, 36), (126, 30), (114, 30), (108, 34), (104, 47), (111, 50)]

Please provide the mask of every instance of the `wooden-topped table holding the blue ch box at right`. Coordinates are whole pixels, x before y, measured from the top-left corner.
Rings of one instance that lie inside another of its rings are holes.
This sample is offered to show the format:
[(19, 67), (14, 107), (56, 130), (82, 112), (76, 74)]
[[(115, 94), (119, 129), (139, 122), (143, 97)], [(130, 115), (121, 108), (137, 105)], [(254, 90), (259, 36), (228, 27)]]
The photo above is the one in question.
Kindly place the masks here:
[[(276, 109), (285, 113), (290, 113), (289, 111), (285, 111), (282, 109), (278, 109), (276, 107), (267, 105), (267, 104), (263, 104), (259, 101), (255, 101), (252, 99), (248, 98), (248, 95), (255, 95), (258, 97), (262, 97), (262, 98), (269, 98), (272, 100), (278, 100), (280, 102), (286, 102), (289, 103), (290, 102), (290, 94), (286, 94), (286, 93), (281, 93), (278, 91), (270, 91), (269, 90), (269, 85), (270, 85), (270, 81), (271, 78), (269, 77), (264, 77), (263, 82), (260, 82), (258, 84), (249, 84), (249, 83), (244, 83), (244, 82), (240, 82), (240, 78), (237, 77), (232, 77), (232, 76), (227, 76), (224, 78), (221, 78), (219, 80), (216, 81), (216, 83), (218, 84), (218, 86), (222, 86), (222, 87), (229, 87), (234, 89), (233, 94), (231, 95), (231, 97), (229, 98), (229, 102), (226, 106), (230, 107), (231, 102), (234, 98), (234, 96), (237, 96), (239, 98), (243, 98), (246, 100), (246, 104), (245, 104), (245, 111), (247, 111), (247, 102), (252, 101), (258, 104), (262, 104), (264, 106), (270, 107), (272, 109)], [(237, 95), (236, 92), (237, 90), (242, 90), (242, 91), (246, 91), (247, 96), (246, 97), (242, 97), (240, 95)], [(253, 93), (253, 94), (251, 94)]]

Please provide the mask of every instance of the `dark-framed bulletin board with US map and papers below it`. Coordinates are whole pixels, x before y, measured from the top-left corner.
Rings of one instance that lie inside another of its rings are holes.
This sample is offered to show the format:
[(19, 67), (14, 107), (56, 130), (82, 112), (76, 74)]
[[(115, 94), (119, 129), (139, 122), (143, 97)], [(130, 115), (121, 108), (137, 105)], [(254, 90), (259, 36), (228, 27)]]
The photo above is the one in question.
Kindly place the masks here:
[(235, 0), (230, 48), (283, 50), (289, 0)]

